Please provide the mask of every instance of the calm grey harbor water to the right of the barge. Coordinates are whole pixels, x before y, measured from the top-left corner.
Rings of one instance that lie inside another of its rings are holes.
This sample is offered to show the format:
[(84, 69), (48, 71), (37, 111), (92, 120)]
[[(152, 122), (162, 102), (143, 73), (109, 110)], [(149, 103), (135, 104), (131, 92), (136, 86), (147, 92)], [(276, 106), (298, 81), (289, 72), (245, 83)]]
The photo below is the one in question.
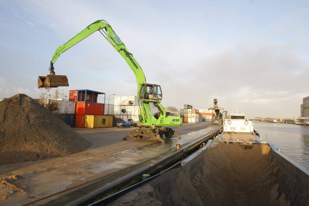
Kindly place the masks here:
[(253, 122), (260, 137), (280, 147), (281, 152), (309, 168), (309, 126)]

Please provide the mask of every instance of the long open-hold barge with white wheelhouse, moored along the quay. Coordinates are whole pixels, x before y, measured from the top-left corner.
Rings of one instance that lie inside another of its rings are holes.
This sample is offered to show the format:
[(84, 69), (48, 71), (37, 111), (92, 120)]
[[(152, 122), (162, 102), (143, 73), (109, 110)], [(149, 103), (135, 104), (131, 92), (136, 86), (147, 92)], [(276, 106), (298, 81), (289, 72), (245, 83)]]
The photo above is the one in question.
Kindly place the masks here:
[(91, 205), (309, 205), (308, 196), (309, 170), (232, 114), (187, 158)]

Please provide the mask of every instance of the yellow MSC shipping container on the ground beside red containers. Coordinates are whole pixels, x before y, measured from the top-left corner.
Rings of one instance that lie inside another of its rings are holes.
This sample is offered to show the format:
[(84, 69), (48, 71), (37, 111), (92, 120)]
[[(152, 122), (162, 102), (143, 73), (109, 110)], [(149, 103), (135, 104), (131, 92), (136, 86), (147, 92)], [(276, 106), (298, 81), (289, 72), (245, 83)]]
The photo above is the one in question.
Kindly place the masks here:
[(85, 128), (107, 128), (113, 126), (113, 116), (85, 115)]

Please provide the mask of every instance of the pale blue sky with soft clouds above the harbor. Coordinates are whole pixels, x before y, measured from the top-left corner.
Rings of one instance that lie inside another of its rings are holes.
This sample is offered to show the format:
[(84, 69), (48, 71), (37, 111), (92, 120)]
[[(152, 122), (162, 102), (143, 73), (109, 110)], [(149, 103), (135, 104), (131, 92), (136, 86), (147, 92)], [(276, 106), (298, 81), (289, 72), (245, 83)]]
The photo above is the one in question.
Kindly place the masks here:
[[(37, 78), (56, 48), (97, 19), (110, 23), (146, 81), (161, 85), (163, 106), (204, 109), (217, 98), (251, 118), (294, 117), (309, 96), (308, 1), (0, 0), (0, 99), (38, 98)], [(99, 32), (54, 67), (68, 76), (58, 89), (67, 95), (137, 94), (132, 70)]]

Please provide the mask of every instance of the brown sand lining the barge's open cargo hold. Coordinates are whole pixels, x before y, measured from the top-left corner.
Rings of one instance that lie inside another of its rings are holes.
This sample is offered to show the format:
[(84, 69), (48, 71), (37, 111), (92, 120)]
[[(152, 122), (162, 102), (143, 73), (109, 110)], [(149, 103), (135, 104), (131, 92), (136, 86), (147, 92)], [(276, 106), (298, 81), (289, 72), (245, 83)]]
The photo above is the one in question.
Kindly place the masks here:
[(109, 205), (146, 205), (142, 200), (150, 205), (290, 205), (278, 191), (278, 170), (269, 146), (213, 143), (182, 168), (161, 174)]

